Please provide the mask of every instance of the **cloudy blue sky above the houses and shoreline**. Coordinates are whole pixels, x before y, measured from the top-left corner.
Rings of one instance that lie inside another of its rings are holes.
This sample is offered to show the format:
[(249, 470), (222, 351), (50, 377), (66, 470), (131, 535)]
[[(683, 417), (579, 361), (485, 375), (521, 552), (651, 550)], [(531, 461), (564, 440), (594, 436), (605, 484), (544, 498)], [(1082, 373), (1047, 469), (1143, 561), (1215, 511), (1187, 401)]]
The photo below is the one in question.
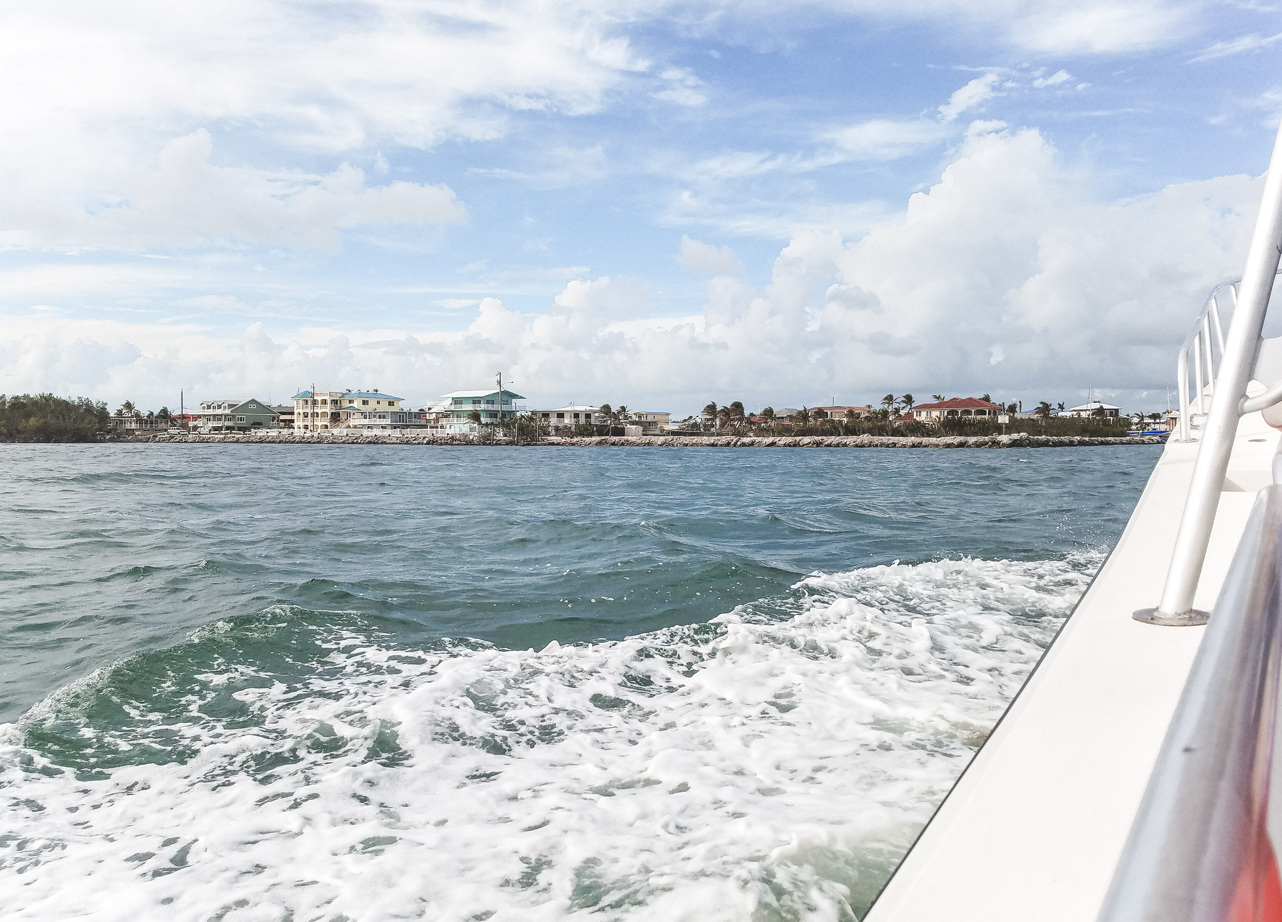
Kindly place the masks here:
[(1282, 117), (1245, 0), (0, 8), (0, 393), (1160, 410)]

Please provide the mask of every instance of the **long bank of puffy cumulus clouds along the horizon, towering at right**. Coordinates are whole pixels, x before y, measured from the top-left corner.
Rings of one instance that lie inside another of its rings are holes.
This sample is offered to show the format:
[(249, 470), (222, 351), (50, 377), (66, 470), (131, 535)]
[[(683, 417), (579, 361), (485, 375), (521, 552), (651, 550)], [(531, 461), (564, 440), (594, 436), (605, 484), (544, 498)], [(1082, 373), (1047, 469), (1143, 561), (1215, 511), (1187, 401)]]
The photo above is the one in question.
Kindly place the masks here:
[[(717, 274), (678, 316), (656, 316), (646, 283), (627, 278), (572, 280), (538, 314), (485, 298), (454, 333), (251, 327), (221, 339), (33, 315), (0, 329), (0, 392), (168, 402), (181, 382), (262, 396), (374, 376), (417, 401), (500, 368), (535, 401), (672, 410), (887, 389), (1160, 389), (1205, 291), (1241, 270), (1259, 193), (1258, 178), (1222, 177), (1108, 201), (1037, 131), (974, 131), (937, 183), (867, 234), (797, 234), (767, 284)], [(683, 250), (724, 255), (692, 239)]]

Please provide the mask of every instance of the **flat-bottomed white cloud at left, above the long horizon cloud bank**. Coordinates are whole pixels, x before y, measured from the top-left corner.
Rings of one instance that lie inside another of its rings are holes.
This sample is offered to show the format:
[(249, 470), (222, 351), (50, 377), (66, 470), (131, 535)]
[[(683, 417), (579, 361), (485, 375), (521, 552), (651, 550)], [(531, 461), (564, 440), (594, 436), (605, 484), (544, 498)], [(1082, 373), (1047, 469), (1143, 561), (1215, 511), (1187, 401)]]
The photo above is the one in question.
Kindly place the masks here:
[(340, 230), (464, 219), (444, 186), (394, 182), (367, 186), (344, 164), (333, 173), (267, 172), (209, 163), (204, 129), (167, 143), (159, 168), (135, 170), (121, 188), (76, 201), (10, 187), (0, 246), (146, 248), (162, 243), (292, 243), (336, 250)]

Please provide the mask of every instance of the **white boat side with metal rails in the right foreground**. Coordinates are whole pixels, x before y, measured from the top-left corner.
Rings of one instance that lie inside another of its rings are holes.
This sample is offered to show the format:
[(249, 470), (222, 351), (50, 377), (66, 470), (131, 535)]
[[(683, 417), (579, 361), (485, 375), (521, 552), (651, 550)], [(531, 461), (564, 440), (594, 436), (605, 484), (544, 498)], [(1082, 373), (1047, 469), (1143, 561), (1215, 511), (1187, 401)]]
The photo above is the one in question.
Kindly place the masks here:
[(1279, 247), (1282, 132), (1122, 538), (865, 922), (1282, 919)]

